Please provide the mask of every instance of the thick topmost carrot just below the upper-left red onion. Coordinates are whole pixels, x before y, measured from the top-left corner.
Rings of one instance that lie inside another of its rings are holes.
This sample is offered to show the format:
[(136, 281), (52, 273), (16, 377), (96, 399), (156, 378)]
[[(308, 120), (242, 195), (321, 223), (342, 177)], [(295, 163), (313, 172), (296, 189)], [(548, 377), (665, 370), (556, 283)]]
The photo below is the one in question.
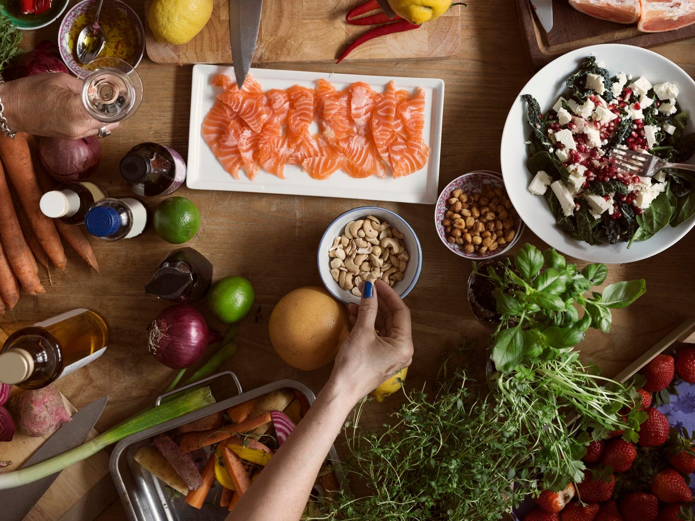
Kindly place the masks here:
[(15, 139), (0, 136), (0, 158), (12, 181), (19, 200), (26, 211), (26, 216), (31, 222), (31, 227), (36, 233), (39, 242), (43, 246), (51, 261), (60, 270), (65, 270), (67, 258), (60, 242), (58, 231), (50, 217), (46, 217), (39, 209), (41, 190), (36, 179), (36, 172), (31, 162), (31, 151), (26, 137), (22, 133), (15, 135)]

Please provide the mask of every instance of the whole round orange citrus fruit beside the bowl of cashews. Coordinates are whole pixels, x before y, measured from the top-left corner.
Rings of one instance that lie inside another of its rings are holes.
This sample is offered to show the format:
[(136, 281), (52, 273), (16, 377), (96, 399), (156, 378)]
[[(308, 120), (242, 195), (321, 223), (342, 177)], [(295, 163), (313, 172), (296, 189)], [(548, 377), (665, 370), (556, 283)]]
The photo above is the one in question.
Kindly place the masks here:
[(297, 288), (270, 313), (270, 342), (288, 365), (312, 371), (336, 357), (350, 333), (348, 317), (347, 307), (325, 288)]

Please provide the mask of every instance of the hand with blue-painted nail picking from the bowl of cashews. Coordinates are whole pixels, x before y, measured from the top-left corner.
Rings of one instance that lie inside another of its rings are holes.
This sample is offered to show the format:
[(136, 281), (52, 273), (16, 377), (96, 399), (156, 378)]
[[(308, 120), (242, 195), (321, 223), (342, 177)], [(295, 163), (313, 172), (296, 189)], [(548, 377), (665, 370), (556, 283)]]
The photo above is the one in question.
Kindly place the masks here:
[(348, 306), (352, 331), (331, 374), (339, 388), (354, 393), (355, 402), (413, 359), (410, 311), (398, 293), (383, 281), (376, 281), (370, 297), (368, 283), (360, 283), (360, 289), (359, 306)]

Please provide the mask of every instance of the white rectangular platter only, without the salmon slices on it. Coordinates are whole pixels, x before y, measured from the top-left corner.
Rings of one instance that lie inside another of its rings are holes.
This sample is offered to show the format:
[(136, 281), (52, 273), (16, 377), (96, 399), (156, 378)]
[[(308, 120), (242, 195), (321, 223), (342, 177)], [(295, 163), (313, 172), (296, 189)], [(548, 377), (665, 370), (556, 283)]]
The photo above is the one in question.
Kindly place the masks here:
[[(299, 165), (285, 166), (285, 179), (259, 170), (254, 181), (243, 172), (234, 179), (224, 171), (215, 155), (202, 138), (201, 126), (208, 110), (213, 106), (220, 88), (211, 85), (217, 74), (234, 78), (234, 69), (222, 65), (194, 65), (193, 89), (190, 101), (190, 128), (188, 133), (188, 188), (199, 190), (231, 190), (238, 192), (265, 192), (269, 194), (313, 195), (320, 197), (344, 197), (347, 199), (372, 199), (375, 201), (399, 201), (404, 203), (434, 204), (439, 192), (439, 152), (441, 148), (441, 122), (444, 106), (444, 82), (436, 78), (401, 78), (391, 76), (362, 76), (357, 74), (332, 74), (328, 72), (300, 72), (274, 69), (251, 69), (250, 73), (261, 82), (263, 90), (287, 89), (292, 85), (316, 88), (319, 78), (333, 83), (338, 90), (351, 83), (363, 81), (377, 92), (383, 92), (393, 80), (396, 89), (425, 92), (425, 129), (423, 139), (430, 147), (430, 158), (425, 167), (414, 174), (393, 179), (390, 172), (386, 179), (370, 176), (354, 179), (341, 170), (329, 179), (311, 179)], [(318, 131), (316, 122), (310, 127)]]

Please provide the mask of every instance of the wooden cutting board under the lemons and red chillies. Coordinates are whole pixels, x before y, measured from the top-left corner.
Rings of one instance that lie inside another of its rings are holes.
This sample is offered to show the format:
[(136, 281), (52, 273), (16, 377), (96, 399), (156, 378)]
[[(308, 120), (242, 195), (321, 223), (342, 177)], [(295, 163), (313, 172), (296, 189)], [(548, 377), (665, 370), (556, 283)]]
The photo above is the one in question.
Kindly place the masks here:
[[(372, 26), (352, 26), (345, 13), (361, 0), (263, 2), (254, 63), (333, 61), (347, 44)], [(145, 46), (156, 63), (231, 63), (229, 0), (214, 0), (210, 20), (183, 45), (154, 41), (147, 24), (152, 0), (145, 1)], [(350, 60), (393, 60), (451, 56), (461, 44), (460, 7), (405, 33), (376, 38), (350, 53)]]

